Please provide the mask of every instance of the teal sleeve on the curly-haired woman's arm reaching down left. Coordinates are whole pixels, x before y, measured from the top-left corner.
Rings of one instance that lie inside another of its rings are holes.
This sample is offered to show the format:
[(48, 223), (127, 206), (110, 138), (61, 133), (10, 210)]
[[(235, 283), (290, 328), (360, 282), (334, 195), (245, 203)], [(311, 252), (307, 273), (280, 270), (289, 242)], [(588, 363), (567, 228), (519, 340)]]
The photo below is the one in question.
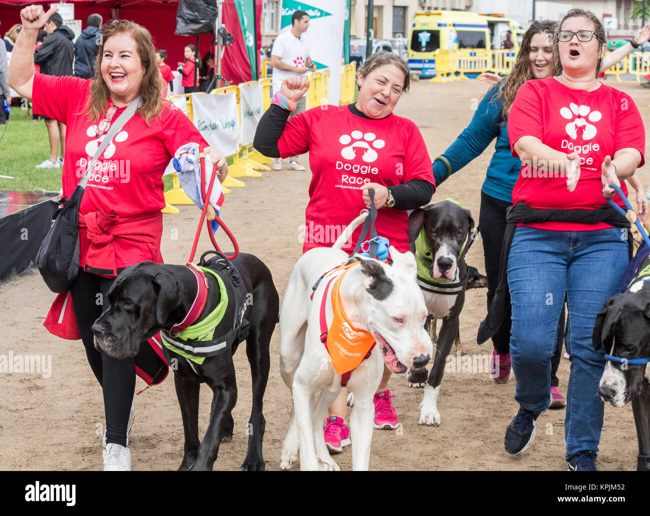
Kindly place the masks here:
[[(494, 101), (499, 84), (495, 84), (478, 104), (471, 122), (442, 155), (451, 165), (455, 174), (474, 158), (481, 155), (487, 146), (499, 136), (501, 123), (501, 103)], [(447, 176), (447, 166), (442, 161), (433, 164), (435, 184), (439, 185)]]

